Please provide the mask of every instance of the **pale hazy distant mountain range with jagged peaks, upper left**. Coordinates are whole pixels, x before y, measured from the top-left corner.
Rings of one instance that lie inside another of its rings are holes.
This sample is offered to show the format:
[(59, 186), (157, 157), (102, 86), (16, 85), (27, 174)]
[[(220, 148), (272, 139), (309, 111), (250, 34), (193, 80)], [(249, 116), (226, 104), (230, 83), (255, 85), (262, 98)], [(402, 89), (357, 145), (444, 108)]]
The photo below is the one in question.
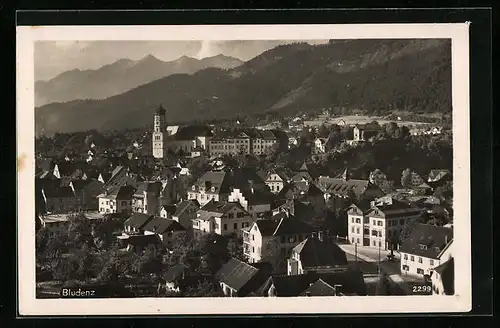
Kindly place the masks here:
[(35, 83), (35, 105), (77, 99), (104, 99), (172, 74), (193, 74), (208, 67), (234, 68), (243, 62), (217, 55), (203, 59), (183, 56), (162, 61), (153, 55), (140, 60), (120, 59), (98, 69), (74, 69)]

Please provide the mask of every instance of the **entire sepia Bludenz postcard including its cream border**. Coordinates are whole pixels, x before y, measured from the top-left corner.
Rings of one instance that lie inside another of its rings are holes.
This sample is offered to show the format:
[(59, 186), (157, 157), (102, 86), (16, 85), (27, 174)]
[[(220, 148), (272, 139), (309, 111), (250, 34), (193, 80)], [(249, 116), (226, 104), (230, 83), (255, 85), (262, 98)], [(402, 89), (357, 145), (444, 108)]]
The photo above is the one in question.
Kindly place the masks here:
[(32, 56), (18, 111), (34, 143), (18, 173), (34, 195), (19, 217), (19, 233), (33, 232), (18, 249), (32, 261), (20, 291), (72, 314), (76, 299), (101, 314), (97, 299), (167, 311), (156, 314), (195, 302), (466, 310), (468, 80), (456, 77), (468, 72), (455, 61), (468, 58), (453, 38), (467, 29), (456, 25), (366, 38), (268, 26), (267, 39), (191, 26), (152, 40), (18, 28), (18, 54)]

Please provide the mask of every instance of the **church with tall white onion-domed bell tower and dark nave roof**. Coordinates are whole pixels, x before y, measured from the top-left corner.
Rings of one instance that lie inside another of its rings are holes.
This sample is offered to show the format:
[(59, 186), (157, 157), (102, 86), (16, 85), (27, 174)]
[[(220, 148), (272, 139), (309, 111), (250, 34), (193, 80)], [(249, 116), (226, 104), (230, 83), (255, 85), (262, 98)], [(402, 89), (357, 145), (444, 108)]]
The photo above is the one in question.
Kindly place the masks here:
[(196, 150), (209, 153), (212, 131), (208, 126), (167, 126), (166, 110), (161, 105), (155, 111), (153, 123), (153, 157), (166, 158), (168, 151), (182, 151), (186, 155)]

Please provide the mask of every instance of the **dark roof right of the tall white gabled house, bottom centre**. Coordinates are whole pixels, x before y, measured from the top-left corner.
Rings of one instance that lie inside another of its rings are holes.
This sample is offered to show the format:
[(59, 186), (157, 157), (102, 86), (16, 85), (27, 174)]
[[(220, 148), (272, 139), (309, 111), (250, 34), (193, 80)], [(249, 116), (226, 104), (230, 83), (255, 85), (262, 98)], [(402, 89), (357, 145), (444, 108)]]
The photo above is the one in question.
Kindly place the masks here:
[(347, 265), (345, 252), (330, 241), (309, 237), (293, 248), (304, 268)]

